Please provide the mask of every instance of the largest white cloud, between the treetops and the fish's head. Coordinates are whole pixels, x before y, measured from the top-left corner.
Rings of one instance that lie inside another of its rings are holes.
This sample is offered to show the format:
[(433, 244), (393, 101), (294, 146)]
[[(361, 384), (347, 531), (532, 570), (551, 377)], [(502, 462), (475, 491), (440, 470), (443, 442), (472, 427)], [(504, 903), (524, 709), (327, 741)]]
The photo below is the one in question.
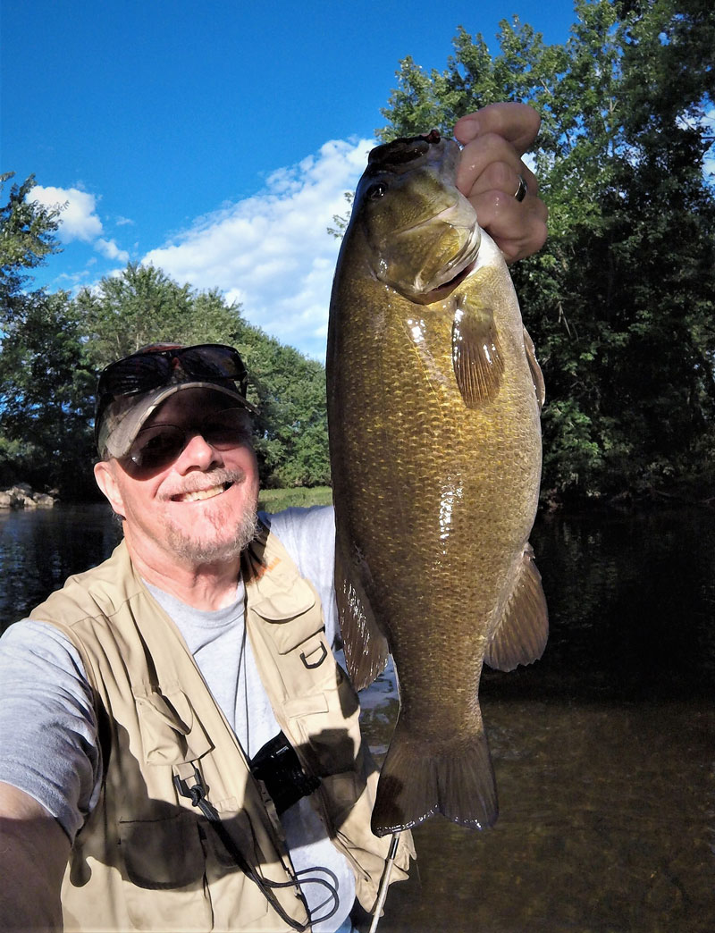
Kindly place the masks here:
[(328, 233), (345, 214), (374, 143), (333, 140), (271, 174), (250, 198), (198, 218), (145, 256), (177, 281), (218, 287), (245, 317), (280, 341), (322, 356), (340, 243)]

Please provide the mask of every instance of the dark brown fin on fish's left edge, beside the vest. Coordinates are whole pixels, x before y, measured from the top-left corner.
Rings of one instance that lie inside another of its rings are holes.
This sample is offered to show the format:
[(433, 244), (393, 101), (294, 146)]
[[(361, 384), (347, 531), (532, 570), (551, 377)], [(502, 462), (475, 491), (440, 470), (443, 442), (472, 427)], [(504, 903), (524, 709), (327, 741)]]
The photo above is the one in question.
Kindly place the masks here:
[(356, 573), (346, 573), (340, 549), (335, 549), (335, 598), (338, 604), (347, 673), (357, 690), (369, 687), (385, 669), (389, 648)]

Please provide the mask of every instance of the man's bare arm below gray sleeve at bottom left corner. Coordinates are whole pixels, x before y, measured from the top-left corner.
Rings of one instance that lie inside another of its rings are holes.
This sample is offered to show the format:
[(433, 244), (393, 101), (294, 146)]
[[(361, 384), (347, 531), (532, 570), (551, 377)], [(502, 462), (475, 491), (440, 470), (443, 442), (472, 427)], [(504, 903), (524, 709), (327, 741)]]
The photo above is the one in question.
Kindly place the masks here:
[(0, 929), (62, 929), (69, 851), (69, 839), (42, 804), (0, 781)]

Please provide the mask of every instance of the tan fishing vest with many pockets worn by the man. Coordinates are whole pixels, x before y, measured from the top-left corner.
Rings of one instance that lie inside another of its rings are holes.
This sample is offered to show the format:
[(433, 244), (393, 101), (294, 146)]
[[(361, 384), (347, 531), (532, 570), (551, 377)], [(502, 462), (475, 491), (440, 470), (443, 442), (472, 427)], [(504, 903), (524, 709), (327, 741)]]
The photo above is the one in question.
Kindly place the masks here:
[[(321, 779), (310, 800), (370, 911), (389, 838), (370, 829), (377, 773), (357, 695), (326, 641), (315, 588), (267, 529), (245, 550), (242, 573), (273, 712), (304, 771)], [(31, 616), (77, 648), (102, 749), (100, 798), (63, 879), (64, 930), (294, 929), (285, 917), (309, 929), (273, 803), (125, 543)], [(405, 877), (411, 855), (403, 833), (393, 878)]]

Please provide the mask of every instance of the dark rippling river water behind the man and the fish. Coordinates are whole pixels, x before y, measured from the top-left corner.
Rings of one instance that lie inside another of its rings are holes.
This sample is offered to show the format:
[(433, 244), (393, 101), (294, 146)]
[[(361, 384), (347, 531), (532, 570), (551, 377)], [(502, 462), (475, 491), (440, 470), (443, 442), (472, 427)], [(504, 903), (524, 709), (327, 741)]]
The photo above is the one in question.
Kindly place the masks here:
[[(0, 628), (116, 540), (103, 506), (0, 515)], [(713, 514), (541, 518), (532, 542), (549, 646), (482, 685), (497, 826), (416, 829), (380, 933), (712, 933)], [(379, 758), (393, 679), (362, 701)]]

